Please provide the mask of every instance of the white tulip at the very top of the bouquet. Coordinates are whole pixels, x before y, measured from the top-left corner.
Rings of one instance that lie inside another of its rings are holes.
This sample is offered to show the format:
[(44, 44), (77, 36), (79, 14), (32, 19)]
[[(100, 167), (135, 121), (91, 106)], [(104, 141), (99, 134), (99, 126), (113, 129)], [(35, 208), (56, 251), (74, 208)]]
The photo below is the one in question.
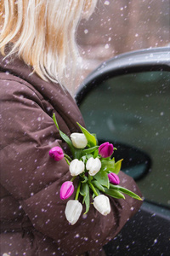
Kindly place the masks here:
[(71, 142), (75, 148), (85, 148), (88, 140), (83, 133), (71, 133)]

